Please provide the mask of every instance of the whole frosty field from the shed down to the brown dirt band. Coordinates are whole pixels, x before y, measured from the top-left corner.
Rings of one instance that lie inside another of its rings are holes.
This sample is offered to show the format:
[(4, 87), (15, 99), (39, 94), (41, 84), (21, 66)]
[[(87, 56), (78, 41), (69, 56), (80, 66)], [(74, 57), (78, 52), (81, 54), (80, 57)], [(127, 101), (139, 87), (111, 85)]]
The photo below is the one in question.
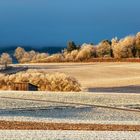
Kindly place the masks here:
[[(20, 99), (9, 99), (9, 97)], [(33, 101), (32, 99), (40, 101)], [(51, 103), (46, 100), (61, 101), (65, 102), (65, 104)], [(140, 112), (67, 103), (88, 103), (126, 108), (125, 106), (128, 105), (138, 106), (139, 101), (139, 94), (93, 94), (82, 92), (59, 94), (7, 91), (0, 92), (0, 119), (44, 122), (140, 124)]]

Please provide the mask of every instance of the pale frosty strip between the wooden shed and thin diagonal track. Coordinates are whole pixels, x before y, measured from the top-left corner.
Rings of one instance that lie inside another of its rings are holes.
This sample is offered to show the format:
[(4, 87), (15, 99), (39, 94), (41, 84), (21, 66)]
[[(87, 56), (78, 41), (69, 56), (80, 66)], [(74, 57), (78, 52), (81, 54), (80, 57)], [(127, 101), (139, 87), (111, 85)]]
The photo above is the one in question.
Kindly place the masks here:
[[(91, 92), (41, 92), (41, 91), (0, 91), (0, 97), (11, 97), (21, 99), (34, 99), (40, 100), (37, 103), (42, 103), (41, 100), (58, 101), (58, 102), (71, 102), (71, 103), (86, 103), (96, 105), (107, 105), (123, 107), (124, 105), (139, 105), (140, 94), (129, 93), (91, 93)], [(4, 101), (4, 100), (3, 100)], [(3, 101), (0, 102), (3, 105)], [(20, 101), (19, 103), (24, 103)], [(16, 107), (18, 104), (4, 102), (10, 107)], [(34, 103), (33, 103), (34, 104)], [(44, 104), (44, 103), (42, 103)], [(27, 105), (27, 104), (25, 104)]]

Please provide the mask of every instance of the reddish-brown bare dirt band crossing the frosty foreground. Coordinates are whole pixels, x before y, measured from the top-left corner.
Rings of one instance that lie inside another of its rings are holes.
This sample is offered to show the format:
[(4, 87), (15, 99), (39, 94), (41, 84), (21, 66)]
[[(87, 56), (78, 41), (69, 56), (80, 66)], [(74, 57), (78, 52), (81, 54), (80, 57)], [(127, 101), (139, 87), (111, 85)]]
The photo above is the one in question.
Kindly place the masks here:
[(140, 125), (68, 124), (0, 121), (1, 130), (92, 130), (92, 131), (140, 131)]

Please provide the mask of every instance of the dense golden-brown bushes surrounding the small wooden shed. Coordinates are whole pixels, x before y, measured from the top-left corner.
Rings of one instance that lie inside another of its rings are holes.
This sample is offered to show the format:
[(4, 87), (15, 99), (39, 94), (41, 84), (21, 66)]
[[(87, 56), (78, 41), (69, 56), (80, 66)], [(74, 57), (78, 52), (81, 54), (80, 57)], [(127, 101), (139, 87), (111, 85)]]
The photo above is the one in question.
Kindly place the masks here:
[(78, 81), (64, 73), (47, 74), (45, 71), (28, 70), (13, 75), (0, 75), (0, 89), (10, 90), (12, 83), (28, 82), (40, 91), (80, 91)]

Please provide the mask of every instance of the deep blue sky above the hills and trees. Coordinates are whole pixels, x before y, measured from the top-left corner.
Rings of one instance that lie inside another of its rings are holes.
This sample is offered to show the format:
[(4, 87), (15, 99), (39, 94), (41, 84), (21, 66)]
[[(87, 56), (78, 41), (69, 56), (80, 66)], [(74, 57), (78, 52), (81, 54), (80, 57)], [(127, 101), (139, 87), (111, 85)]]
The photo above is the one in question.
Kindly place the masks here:
[(0, 46), (97, 43), (140, 31), (140, 0), (0, 0)]

